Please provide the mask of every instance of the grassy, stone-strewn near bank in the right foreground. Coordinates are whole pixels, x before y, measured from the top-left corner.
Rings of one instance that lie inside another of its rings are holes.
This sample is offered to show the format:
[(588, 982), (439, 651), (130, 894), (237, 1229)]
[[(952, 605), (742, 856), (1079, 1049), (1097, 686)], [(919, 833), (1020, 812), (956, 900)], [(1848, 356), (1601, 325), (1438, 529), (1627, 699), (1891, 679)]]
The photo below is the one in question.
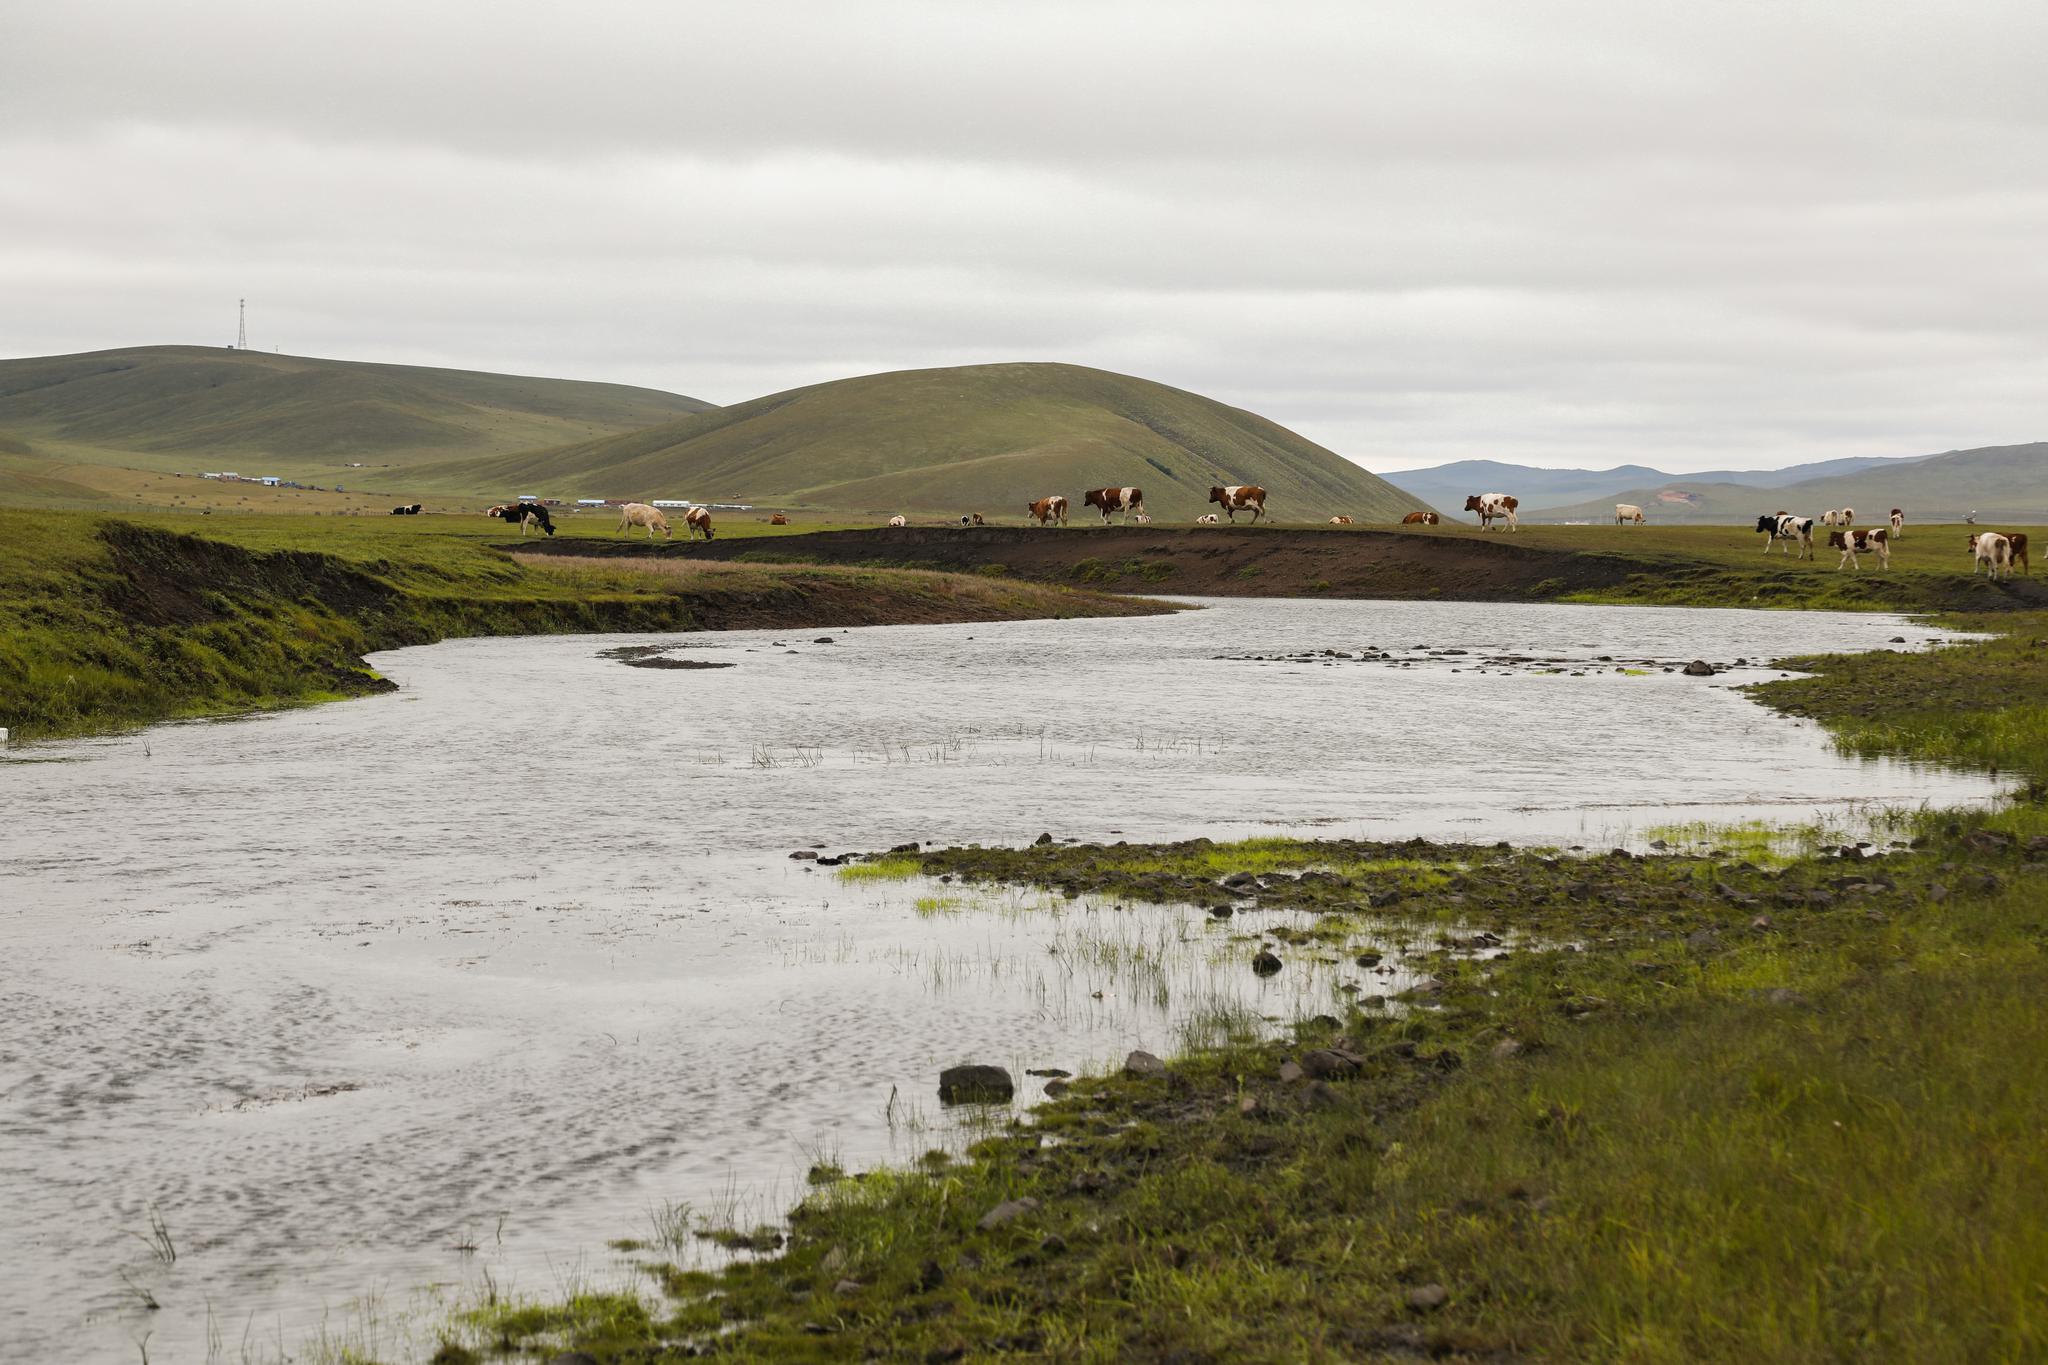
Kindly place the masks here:
[(1288, 970), (1409, 941), (1430, 978), (1374, 999), (1366, 976), (1278, 1038), (1212, 1019), (967, 1160), (825, 1173), (780, 1250), (723, 1273), (643, 1252), (645, 1295), (477, 1304), (436, 1359), (2040, 1359), (2048, 724), (2007, 698), (2042, 681), (2048, 614), (1995, 626), (1759, 688), (1853, 751), (2034, 784), (1896, 814), (1868, 849), (1692, 829), (1657, 855), (1262, 839), (877, 864), (1296, 909), (1237, 939), (1245, 970), (1262, 943)]

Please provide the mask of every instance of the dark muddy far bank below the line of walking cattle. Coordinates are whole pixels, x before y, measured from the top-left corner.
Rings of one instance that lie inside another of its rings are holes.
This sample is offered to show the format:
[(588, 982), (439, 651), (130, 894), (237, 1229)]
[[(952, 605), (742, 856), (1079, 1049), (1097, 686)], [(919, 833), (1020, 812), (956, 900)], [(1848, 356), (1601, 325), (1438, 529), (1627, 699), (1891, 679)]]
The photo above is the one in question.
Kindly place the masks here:
[[(1575, 530), (1575, 528), (1567, 528)], [(1733, 532), (1731, 532), (1733, 534)], [(522, 546), (524, 548), (524, 546)], [(553, 542), (539, 555), (944, 569), (1118, 593), (1454, 602), (1638, 602), (2001, 612), (2048, 606), (2048, 585), (1944, 573), (1835, 573), (1833, 563), (1708, 557), (1669, 544), (1583, 548), (1556, 536), (1305, 526), (897, 526), (713, 542)]]

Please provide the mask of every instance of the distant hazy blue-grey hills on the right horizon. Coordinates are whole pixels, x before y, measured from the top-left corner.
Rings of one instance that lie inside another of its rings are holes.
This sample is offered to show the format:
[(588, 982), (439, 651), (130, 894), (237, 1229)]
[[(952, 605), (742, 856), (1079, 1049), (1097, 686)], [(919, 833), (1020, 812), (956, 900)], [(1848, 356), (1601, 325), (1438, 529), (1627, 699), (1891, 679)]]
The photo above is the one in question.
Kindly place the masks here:
[[(1686, 501), (1675, 501), (1679, 495)], [(2048, 442), (1950, 450), (1909, 465), (1880, 465), (1784, 487), (1677, 479), (1597, 501), (1546, 508), (1538, 518), (1604, 520), (1614, 516), (1618, 501), (1638, 503), (1647, 516), (1663, 522), (1745, 524), (1755, 522), (1761, 512), (1780, 508), (1806, 516), (1819, 516), (1829, 508), (1855, 508), (1858, 524), (1876, 524), (1892, 508), (1903, 508), (1909, 526), (1960, 522), (1966, 512), (1976, 512), (1980, 522), (2038, 526), (2048, 520)]]

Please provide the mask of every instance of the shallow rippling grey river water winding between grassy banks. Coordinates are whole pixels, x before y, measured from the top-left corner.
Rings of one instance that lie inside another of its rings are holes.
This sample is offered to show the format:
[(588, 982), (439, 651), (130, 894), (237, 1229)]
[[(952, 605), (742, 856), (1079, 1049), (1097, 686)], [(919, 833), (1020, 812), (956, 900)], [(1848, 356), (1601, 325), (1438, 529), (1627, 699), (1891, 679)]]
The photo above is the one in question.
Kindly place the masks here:
[[(604, 1240), (662, 1201), (772, 1220), (821, 1152), (942, 1146), (954, 1060), (1079, 1070), (1217, 1005), (1286, 1017), (1401, 982), (1262, 982), (1229, 927), (1174, 907), (920, 915), (961, 892), (791, 849), (1606, 847), (1993, 794), (1843, 759), (1731, 690), (1769, 671), (1591, 663), (1935, 639), (1894, 618), (1233, 600), (815, 634), (459, 641), (379, 657), (393, 696), (0, 763), (0, 1357), (389, 1342), (432, 1308), (418, 1285), (602, 1279)], [(635, 643), (737, 667), (604, 657)], [(1573, 663), (1243, 657), (1419, 643)], [(152, 1205), (174, 1265), (129, 1236)]]

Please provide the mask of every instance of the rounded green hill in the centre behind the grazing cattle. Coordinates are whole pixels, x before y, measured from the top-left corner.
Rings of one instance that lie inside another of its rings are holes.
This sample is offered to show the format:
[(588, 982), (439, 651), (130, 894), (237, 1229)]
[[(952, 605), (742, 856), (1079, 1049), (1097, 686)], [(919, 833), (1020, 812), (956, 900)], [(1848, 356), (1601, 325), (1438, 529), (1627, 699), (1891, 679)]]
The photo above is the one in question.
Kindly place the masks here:
[(1399, 518), (1413, 497), (1239, 407), (1073, 364), (901, 370), (774, 393), (559, 450), (451, 467), (477, 487), (891, 512), (977, 510), (1137, 485), (1155, 518), (1260, 483), (1282, 520)]

